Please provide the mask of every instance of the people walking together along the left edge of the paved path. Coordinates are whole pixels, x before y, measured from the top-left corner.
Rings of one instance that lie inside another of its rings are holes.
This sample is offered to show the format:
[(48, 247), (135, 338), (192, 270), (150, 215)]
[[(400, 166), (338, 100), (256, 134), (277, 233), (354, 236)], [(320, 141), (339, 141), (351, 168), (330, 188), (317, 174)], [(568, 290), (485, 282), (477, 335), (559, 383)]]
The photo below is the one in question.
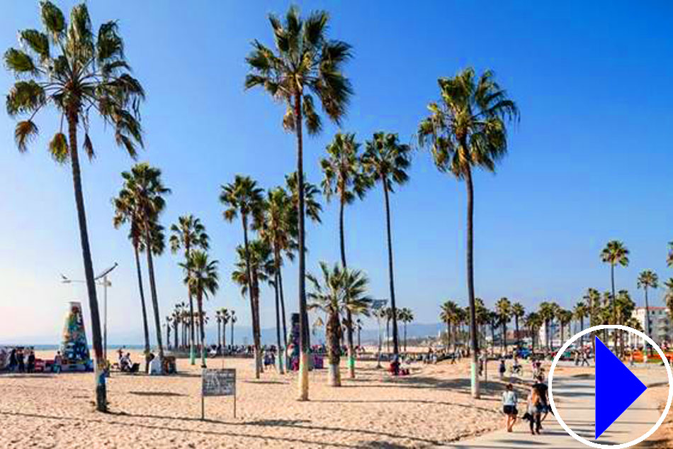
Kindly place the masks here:
[[(549, 406), (549, 387), (544, 382), (544, 377), (538, 375), (536, 382), (531, 385), (526, 399), (526, 412), (522, 419), (528, 421), (533, 435), (540, 434), (542, 430), (542, 421), (550, 411)], [(508, 432), (512, 431), (514, 423), (519, 416), (519, 398), (514, 391), (512, 384), (507, 384), (502, 393), (502, 411), (505, 415), (505, 427)]]

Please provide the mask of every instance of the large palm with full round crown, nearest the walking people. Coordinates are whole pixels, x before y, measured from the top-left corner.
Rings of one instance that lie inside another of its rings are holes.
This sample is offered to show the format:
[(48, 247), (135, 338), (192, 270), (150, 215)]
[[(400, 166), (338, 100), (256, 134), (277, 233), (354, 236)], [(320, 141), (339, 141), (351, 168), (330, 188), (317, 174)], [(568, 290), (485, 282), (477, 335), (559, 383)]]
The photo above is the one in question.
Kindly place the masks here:
[[(519, 109), (507, 98), (507, 92), (495, 82), (490, 70), (475, 79), (475, 70), (468, 68), (453, 78), (438, 80), (441, 101), (428, 105), (430, 116), (419, 125), (419, 144), (429, 146), (435, 165), (441, 172), (450, 172), (458, 180), (465, 179), (468, 194), (467, 217), (467, 283), (470, 304), (470, 326), (475, 319), (475, 285), (473, 268), (475, 167), (495, 170), (496, 163), (507, 153), (506, 120), (518, 120)], [(477, 337), (472, 336), (472, 394), (479, 397), (477, 378)]]

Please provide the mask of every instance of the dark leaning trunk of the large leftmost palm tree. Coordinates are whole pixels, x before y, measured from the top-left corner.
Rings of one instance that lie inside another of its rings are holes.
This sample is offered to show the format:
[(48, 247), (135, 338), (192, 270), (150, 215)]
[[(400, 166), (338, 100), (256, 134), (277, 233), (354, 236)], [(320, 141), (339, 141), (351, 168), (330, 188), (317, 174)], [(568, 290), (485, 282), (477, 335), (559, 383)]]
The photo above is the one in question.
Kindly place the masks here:
[(72, 167), (72, 185), (77, 206), (77, 221), (79, 223), (79, 240), (81, 254), (84, 260), (84, 279), (86, 279), (86, 293), (89, 296), (89, 310), (91, 311), (91, 337), (94, 344), (95, 379), (96, 379), (96, 410), (107, 411), (108, 401), (106, 394), (105, 374), (106, 360), (103, 360), (103, 342), (101, 340), (101, 318), (98, 314), (98, 298), (96, 297), (96, 283), (94, 281), (94, 263), (91, 261), (89, 247), (89, 231), (86, 229), (86, 211), (84, 211), (84, 194), (81, 190), (81, 174), (79, 172), (79, 155), (77, 154), (77, 114), (68, 115), (68, 134), (70, 143), (70, 164)]

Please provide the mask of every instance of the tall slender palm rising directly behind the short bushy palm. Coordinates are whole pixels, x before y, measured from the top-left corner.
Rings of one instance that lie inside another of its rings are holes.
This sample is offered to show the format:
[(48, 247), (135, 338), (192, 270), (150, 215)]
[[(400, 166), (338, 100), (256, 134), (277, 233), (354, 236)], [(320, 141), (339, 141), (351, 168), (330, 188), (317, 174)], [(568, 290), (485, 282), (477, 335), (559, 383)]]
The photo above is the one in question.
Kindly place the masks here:
[[(368, 177), (363, 173), (358, 150), (360, 144), (355, 134), (336, 133), (332, 143), (327, 145), (327, 158), (320, 160), (324, 174), (322, 192), (327, 201), (332, 195), (339, 199), (339, 249), (341, 250), (341, 266), (346, 269), (346, 238), (344, 233), (344, 207), (352, 204), (356, 196), (363, 199), (369, 185)], [(355, 350), (353, 343), (353, 317), (350, 309), (346, 309), (346, 337), (348, 341), (349, 377), (355, 379)]]

